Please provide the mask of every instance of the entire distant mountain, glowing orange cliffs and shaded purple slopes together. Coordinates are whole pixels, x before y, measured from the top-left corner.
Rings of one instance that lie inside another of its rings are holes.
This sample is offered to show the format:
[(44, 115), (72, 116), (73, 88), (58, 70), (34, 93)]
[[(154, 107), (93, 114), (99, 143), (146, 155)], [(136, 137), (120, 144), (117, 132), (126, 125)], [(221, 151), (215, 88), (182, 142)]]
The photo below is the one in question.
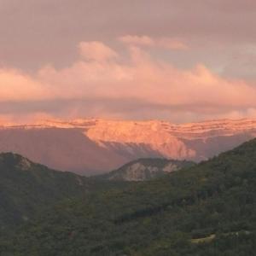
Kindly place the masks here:
[(206, 160), (256, 137), (256, 119), (174, 125), (160, 120), (45, 120), (0, 127), (0, 152), (63, 171), (108, 172), (138, 158)]

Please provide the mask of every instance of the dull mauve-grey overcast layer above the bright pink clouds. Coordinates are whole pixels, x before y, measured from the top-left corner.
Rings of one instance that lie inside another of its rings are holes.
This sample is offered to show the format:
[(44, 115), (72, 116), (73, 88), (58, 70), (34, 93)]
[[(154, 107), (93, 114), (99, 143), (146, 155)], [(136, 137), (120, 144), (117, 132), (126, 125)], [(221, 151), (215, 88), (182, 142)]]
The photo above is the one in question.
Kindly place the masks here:
[[(0, 3), (3, 67), (28, 71), (48, 63), (57, 68), (67, 67), (75, 61), (77, 52), (73, 49), (78, 42), (99, 40), (108, 44), (120, 35), (185, 39), (183, 43), (189, 44), (189, 51), (182, 56), (178, 55), (182, 51), (168, 54), (179, 67), (191, 67), (197, 62), (211, 68), (223, 67), (236, 47), (243, 49), (247, 44), (256, 44), (256, 1), (252, 0), (1, 0)], [(236, 77), (236, 70), (230, 68), (230, 71)]]

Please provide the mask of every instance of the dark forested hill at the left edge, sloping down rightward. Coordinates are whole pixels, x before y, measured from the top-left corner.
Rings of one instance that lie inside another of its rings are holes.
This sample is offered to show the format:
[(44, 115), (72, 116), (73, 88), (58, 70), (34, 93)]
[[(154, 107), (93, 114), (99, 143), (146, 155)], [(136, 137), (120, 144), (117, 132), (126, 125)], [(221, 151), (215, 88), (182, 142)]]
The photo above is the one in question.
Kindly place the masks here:
[(17, 225), (39, 207), (79, 196), (90, 183), (73, 173), (56, 172), (19, 154), (0, 154), (0, 225)]

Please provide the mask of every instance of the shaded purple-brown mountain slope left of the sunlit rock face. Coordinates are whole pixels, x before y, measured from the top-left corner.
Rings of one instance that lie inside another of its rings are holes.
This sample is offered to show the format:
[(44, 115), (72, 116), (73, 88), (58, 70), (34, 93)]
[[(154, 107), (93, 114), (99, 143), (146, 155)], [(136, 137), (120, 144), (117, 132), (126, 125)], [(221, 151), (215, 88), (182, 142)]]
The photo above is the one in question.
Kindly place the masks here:
[(73, 128), (20, 127), (0, 129), (0, 152), (15, 152), (55, 170), (96, 174), (113, 170), (125, 158), (102, 148)]

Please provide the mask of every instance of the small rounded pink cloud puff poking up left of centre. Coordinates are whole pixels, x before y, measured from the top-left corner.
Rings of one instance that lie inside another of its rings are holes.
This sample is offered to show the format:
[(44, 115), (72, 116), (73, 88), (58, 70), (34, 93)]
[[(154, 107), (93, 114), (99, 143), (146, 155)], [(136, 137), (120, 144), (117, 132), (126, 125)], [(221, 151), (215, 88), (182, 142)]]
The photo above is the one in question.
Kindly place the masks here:
[(113, 49), (102, 42), (81, 42), (79, 50), (86, 61), (109, 61), (118, 57)]

